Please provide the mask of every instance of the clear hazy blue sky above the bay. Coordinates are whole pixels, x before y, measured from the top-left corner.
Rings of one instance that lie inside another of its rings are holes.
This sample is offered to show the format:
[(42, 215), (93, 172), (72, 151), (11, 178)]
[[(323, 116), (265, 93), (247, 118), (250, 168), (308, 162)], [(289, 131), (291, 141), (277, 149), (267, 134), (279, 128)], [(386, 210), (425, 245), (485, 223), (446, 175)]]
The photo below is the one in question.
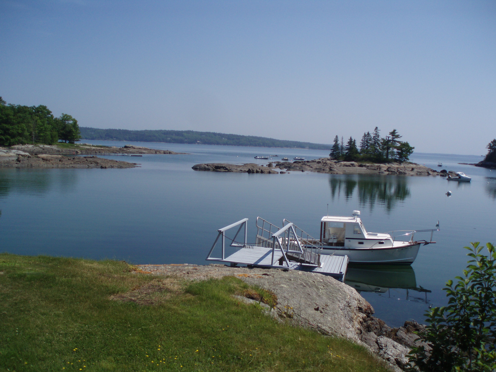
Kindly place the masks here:
[(80, 126), (496, 138), (496, 1), (0, 0), (0, 96)]

